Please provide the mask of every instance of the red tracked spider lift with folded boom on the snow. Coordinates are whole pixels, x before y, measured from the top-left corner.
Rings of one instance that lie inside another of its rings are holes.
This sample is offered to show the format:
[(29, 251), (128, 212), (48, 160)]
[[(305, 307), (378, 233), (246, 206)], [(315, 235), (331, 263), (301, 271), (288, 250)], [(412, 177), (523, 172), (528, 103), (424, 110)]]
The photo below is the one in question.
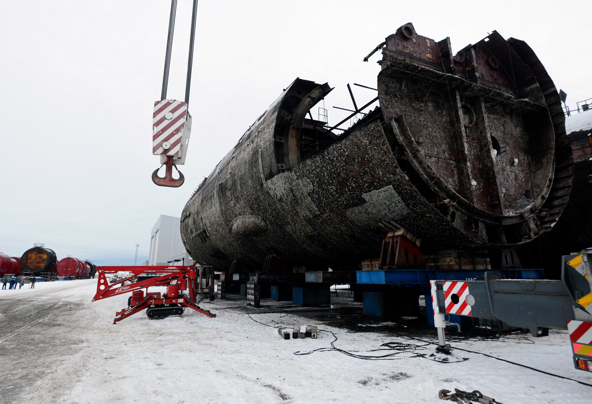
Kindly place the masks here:
[[(109, 284), (105, 274), (115, 274), (120, 271), (131, 272), (133, 275)], [(193, 265), (189, 265), (189, 267), (96, 267), (96, 272), (99, 278), (96, 283), (96, 294), (92, 302), (132, 292), (128, 299), (127, 309), (115, 313), (114, 324), (144, 309), (147, 309), (146, 315), (150, 319), (181, 316), (185, 311), (185, 307), (194, 309), (196, 312), (205, 314), (208, 317), (216, 316), (210, 313), (210, 310), (204, 310), (198, 306), (197, 286), (195, 284), (197, 276)], [(144, 272), (156, 276), (123, 285), (125, 281), (130, 281)], [(149, 292), (148, 288), (151, 286), (166, 286), (166, 293), (161, 296), (160, 292)], [(144, 288), (146, 294), (142, 290)], [(185, 290), (189, 294), (185, 294)]]

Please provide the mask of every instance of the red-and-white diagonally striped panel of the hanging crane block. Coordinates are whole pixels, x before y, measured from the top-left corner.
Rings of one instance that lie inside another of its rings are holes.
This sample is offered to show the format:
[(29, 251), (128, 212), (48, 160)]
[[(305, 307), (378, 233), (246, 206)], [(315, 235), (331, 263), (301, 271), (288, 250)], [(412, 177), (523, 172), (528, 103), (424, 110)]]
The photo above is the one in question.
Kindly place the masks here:
[[(181, 133), (185, 127), (187, 104), (178, 100), (154, 103), (152, 120), (152, 153), (176, 156), (181, 150)], [(166, 143), (165, 143), (166, 142)], [(165, 147), (163, 147), (165, 143)]]

